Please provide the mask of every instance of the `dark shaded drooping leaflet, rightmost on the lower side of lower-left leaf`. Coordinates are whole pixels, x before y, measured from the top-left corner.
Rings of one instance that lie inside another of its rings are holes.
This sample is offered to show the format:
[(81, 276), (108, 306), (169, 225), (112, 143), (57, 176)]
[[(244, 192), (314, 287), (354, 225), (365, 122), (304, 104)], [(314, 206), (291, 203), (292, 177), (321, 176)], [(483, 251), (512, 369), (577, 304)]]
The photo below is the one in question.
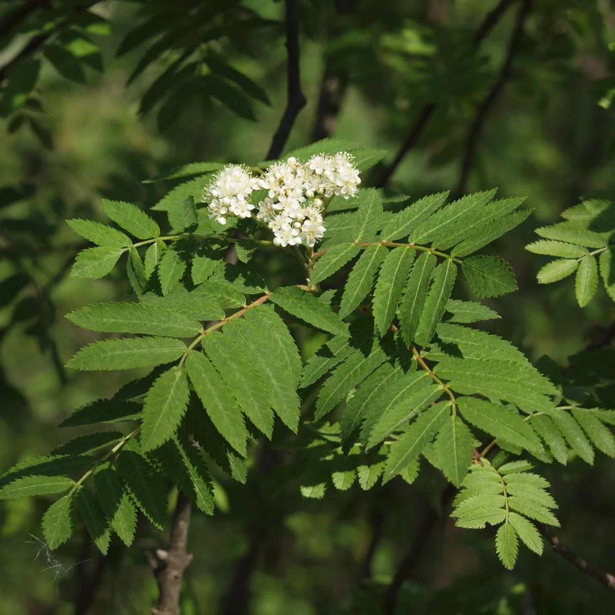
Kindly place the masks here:
[(141, 512), (162, 530), (167, 519), (167, 494), (161, 473), (145, 456), (125, 448), (117, 455), (116, 464)]

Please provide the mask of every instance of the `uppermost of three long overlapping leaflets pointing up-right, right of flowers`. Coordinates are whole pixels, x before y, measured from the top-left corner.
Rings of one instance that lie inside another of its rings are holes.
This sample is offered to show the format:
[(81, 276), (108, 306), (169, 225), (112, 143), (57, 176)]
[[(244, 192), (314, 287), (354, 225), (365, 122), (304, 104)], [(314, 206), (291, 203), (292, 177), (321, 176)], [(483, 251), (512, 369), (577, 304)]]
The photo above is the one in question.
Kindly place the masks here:
[[(456, 238), (459, 231), (466, 228), (468, 224), (474, 223), (477, 220), (478, 212), (491, 199), (493, 199), (496, 191), (477, 192), (476, 194), (468, 194), (461, 199), (446, 205), (438, 212), (433, 213), (427, 220), (419, 224), (408, 237), (409, 244), (425, 245), (433, 242), (433, 247), (441, 247), (443, 249), (456, 244), (465, 237), (451, 243), (451, 237)], [(470, 227), (471, 228), (471, 227)]]

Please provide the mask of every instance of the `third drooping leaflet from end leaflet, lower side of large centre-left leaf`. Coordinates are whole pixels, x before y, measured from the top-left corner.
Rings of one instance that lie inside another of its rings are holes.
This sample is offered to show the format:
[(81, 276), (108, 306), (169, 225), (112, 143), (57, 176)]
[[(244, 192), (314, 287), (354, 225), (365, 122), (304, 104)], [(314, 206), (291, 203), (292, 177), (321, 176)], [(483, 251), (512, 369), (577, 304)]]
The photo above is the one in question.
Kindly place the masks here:
[(250, 357), (268, 389), (269, 405), (282, 422), (296, 433), (301, 402), (292, 379), (284, 372), (285, 357), (280, 356), (271, 336), (253, 321), (246, 319), (231, 320), (224, 328), (224, 335), (234, 339)]

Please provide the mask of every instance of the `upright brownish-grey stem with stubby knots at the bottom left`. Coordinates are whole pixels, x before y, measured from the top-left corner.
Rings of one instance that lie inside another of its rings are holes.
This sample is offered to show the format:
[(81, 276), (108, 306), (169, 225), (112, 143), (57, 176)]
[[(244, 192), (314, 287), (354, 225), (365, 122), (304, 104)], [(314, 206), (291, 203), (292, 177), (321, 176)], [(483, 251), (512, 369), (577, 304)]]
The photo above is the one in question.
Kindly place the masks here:
[(191, 512), (192, 505), (189, 499), (180, 491), (173, 515), (169, 550), (157, 551), (160, 563), (156, 566), (154, 574), (160, 597), (157, 608), (152, 609), (154, 615), (180, 615), (181, 579), (192, 561), (192, 555), (186, 552)]

